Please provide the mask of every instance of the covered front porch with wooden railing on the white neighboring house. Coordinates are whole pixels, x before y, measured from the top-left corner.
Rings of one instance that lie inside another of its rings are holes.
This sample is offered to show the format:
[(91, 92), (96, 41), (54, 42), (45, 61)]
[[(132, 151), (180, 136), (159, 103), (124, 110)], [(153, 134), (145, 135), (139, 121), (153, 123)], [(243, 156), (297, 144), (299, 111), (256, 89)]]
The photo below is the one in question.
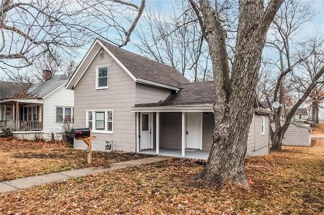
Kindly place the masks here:
[(11, 99), (0, 101), (0, 130), (4, 132), (41, 131), (43, 129), (42, 99)]

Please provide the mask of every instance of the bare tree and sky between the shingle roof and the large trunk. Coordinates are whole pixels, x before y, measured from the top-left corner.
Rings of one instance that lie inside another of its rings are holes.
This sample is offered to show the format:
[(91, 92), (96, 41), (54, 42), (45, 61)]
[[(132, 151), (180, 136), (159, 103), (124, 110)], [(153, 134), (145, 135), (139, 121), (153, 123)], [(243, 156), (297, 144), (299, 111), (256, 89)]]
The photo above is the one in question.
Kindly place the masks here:
[(146, 8), (136, 31), (140, 42), (134, 44), (142, 55), (175, 67), (193, 82), (212, 80), (208, 46), (196, 15), (187, 0), (172, 4), (171, 16)]

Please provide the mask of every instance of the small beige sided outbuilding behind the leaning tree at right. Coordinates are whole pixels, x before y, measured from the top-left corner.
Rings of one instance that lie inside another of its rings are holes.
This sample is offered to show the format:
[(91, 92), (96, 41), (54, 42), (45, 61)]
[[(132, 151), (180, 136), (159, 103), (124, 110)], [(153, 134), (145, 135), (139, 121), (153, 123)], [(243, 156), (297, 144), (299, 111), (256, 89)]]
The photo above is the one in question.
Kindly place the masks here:
[[(283, 125), (284, 121), (282, 121), (281, 124)], [(274, 123), (271, 124), (271, 127), (274, 129)], [(313, 129), (309, 126), (292, 122), (289, 125), (281, 143), (282, 145), (310, 146), (310, 132), (312, 130)]]

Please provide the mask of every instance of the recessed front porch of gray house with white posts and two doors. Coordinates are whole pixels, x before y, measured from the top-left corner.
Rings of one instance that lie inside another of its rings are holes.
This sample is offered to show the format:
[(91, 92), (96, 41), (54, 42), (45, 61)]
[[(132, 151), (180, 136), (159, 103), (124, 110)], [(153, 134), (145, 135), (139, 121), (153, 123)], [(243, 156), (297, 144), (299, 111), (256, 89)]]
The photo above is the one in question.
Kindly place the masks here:
[(214, 130), (210, 107), (187, 111), (137, 110), (136, 122), (137, 152), (208, 158)]

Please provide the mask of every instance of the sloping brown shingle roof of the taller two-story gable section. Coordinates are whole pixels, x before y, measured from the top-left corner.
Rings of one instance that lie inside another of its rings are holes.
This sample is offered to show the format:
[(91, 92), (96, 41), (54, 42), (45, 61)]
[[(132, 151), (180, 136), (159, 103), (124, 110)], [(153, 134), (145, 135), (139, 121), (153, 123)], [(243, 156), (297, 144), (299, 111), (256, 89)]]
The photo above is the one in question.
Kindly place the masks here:
[(174, 67), (136, 55), (103, 40), (100, 41), (136, 78), (176, 88), (179, 88), (181, 83), (189, 83), (189, 80)]

